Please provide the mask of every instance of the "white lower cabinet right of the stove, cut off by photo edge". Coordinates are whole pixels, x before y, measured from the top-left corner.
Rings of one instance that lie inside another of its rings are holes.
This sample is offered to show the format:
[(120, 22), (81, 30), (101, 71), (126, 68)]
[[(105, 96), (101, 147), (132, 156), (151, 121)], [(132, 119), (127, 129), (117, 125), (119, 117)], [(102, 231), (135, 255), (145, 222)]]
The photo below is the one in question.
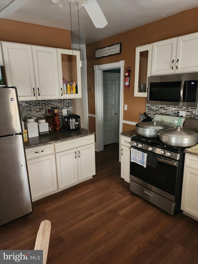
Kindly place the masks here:
[(186, 154), (183, 172), (181, 209), (198, 220), (198, 157)]

